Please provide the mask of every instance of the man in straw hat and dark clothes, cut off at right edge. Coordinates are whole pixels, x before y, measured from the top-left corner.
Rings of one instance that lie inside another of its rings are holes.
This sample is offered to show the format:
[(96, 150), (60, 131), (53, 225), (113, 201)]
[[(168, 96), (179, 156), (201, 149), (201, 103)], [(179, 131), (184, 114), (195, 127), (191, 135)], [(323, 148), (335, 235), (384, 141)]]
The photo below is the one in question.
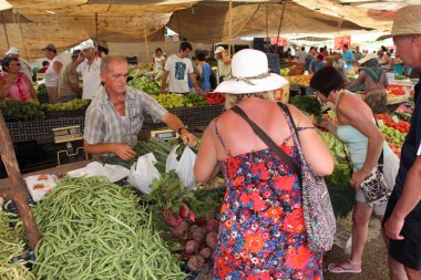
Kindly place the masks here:
[[(398, 10), (392, 32), (397, 55), (403, 63), (421, 69), (421, 6)], [(421, 279), (421, 80), (415, 85), (415, 108), (411, 128), (402, 146), (401, 162), (393, 191), (384, 214), (384, 232), (390, 238), (392, 279)], [(399, 266), (404, 267), (403, 277)]]

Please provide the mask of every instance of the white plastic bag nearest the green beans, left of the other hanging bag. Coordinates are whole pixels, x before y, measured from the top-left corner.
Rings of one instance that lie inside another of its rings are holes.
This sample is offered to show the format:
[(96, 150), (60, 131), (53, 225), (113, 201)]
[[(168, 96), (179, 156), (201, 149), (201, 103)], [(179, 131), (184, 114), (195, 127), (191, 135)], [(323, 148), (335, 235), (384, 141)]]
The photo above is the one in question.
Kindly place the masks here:
[(138, 157), (137, 163), (133, 164), (129, 174), (129, 182), (145, 195), (150, 195), (150, 187), (153, 179), (160, 179), (160, 172), (154, 166), (156, 158), (148, 153)]

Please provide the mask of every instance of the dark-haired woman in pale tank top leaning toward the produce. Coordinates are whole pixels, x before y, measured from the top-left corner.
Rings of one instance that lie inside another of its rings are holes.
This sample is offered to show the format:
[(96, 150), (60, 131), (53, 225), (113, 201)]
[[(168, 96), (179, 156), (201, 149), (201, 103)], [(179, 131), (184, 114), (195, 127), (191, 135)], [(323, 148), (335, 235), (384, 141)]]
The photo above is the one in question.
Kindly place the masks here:
[[(328, 270), (332, 273), (360, 273), (370, 216), (374, 210), (382, 219), (387, 206), (384, 199), (371, 208), (366, 203), (360, 184), (376, 167), (383, 152), (384, 179), (392, 189), (399, 158), (384, 142), (371, 108), (358, 96), (343, 90), (343, 79), (335, 68), (327, 66), (318, 71), (311, 77), (310, 86), (316, 90), (321, 102), (336, 104), (338, 124), (326, 118), (324, 125), (347, 145), (353, 165), (350, 185), (356, 189), (356, 205), (352, 215), (351, 257), (348, 261), (329, 265)], [(394, 262), (389, 262), (389, 269), (394, 273), (404, 273), (403, 266)]]

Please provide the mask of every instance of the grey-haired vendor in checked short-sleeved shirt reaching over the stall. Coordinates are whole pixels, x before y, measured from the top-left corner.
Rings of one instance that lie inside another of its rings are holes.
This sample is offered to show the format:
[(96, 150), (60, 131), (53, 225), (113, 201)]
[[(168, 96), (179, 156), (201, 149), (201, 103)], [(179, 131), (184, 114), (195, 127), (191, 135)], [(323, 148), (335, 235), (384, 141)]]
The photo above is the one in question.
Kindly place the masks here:
[(178, 132), (184, 143), (196, 145), (195, 136), (182, 121), (168, 113), (147, 93), (126, 85), (127, 61), (106, 55), (101, 62), (101, 81), (96, 96), (86, 111), (84, 149), (90, 154), (117, 155), (124, 160), (136, 155), (133, 146), (142, 128), (143, 112)]

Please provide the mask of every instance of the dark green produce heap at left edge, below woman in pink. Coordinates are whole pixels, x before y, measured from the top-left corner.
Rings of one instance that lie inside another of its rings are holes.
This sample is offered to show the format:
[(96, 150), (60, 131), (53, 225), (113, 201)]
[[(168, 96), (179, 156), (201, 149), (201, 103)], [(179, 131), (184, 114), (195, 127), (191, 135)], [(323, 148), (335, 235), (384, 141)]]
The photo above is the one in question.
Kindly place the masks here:
[(40, 121), (45, 118), (42, 106), (32, 101), (0, 100), (0, 111), (4, 117), (17, 121)]

